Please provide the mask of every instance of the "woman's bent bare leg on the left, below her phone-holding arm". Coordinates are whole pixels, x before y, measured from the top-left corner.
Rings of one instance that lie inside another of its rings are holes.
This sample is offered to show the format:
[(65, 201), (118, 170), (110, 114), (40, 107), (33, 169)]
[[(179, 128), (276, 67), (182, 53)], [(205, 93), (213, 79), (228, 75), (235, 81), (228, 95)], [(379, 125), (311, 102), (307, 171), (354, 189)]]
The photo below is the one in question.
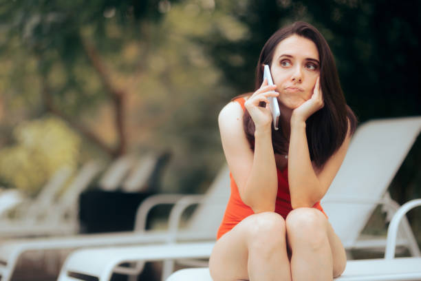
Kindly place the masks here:
[(245, 218), (219, 238), (209, 269), (214, 281), (290, 281), (285, 221), (272, 212)]

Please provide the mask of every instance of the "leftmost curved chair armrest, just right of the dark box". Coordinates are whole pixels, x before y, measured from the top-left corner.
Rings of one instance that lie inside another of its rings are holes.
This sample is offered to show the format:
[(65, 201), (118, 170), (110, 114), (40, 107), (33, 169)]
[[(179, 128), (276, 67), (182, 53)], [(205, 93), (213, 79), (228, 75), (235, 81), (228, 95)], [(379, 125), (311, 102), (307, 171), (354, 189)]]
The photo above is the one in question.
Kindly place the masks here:
[(138, 207), (136, 211), (135, 231), (144, 231), (146, 229), (147, 217), (149, 211), (158, 205), (175, 205), (175, 203), (183, 198), (184, 194), (157, 194), (149, 196)]

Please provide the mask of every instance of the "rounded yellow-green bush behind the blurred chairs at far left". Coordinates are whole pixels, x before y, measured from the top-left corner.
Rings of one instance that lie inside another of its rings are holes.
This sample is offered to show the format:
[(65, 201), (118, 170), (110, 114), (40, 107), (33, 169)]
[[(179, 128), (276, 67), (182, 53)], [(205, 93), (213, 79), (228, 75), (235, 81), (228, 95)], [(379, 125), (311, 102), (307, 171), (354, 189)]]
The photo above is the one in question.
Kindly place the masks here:
[(0, 149), (0, 178), (33, 195), (67, 165), (78, 164), (80, 137), (52, 116), (21, 123), (14, 128), (14, 145)]

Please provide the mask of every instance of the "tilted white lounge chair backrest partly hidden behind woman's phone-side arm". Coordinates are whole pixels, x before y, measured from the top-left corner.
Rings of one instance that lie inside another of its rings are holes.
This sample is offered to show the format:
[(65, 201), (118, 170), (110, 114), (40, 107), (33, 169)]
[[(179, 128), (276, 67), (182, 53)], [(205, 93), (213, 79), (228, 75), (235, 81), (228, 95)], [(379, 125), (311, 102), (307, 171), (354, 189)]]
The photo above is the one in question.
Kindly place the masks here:
[(188, 229), (213, 233), (216, 238), (217, 229), (222, 222), (230, 197), (230, 171), (227, 165), (219, 171), (205, 196), (203, 204), (197, 207), (189, 220)]

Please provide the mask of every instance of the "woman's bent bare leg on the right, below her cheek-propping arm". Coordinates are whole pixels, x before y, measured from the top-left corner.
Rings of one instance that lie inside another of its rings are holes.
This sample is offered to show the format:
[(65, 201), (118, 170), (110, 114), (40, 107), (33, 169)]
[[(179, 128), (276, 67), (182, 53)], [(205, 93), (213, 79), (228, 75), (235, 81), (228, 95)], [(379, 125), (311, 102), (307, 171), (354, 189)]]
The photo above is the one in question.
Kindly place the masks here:
[(286, 218), (292, 280), (333, 280), (345, 269), (345, 249), (321, 211), (297, 208)]

